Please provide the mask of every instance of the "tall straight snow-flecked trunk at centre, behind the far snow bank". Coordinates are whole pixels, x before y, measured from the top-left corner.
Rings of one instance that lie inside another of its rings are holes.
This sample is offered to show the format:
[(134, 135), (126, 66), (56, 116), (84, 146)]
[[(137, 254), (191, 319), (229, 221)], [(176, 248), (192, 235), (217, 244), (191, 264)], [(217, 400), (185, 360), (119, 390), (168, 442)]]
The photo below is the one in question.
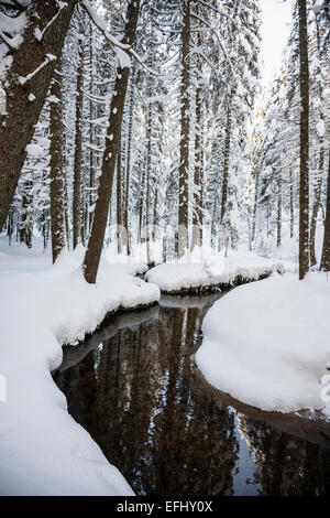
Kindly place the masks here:
[(183, 0), (182, 33), (182, 132), (179, 163), (178, 258), (188, 246), (188, 180), (189, 180), (189, 80), (190, 80), (190, 0)]

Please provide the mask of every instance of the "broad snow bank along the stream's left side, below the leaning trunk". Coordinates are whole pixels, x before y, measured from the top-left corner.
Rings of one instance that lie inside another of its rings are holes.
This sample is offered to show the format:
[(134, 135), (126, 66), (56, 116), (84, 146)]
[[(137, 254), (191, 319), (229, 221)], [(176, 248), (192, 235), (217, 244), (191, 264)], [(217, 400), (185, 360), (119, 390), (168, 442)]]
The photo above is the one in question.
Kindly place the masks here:
[[(91, 333), (110, 311), (157, 301), (157, 287), (132, 277), (139, 266), (108, 265), (84, 281), (79, 249), (50, 266), (48, 255), (8, 248), (0, 238), (1, 495), (132, 495), (90, 435), (67, 413), (51, 370), (62, 344)], [(3, 378), (2, 378), (3, 379)]]

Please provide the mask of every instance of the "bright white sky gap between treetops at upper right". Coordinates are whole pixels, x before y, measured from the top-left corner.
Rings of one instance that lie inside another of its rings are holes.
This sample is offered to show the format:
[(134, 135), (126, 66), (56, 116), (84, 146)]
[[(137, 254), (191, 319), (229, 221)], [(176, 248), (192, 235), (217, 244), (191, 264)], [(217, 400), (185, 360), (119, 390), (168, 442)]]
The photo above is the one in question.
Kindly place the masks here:
[(262, 83), (271, 82), (280, 66), (282, 52), (290, 33), (294, 0), (260, 0)]

